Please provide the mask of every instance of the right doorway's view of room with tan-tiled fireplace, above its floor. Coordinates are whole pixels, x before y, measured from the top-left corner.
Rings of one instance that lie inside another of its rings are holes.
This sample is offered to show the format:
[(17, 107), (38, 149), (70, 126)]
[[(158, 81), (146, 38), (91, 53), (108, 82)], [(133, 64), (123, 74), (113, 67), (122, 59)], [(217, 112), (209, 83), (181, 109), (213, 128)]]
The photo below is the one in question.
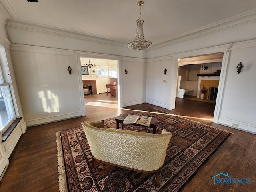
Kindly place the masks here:
[[(218, 53), (181, 58), (178, 63), (176, 96), (215, 104), (223, 55), (224, 53)], [(202, 91), (203, 87), (206, 92)]]

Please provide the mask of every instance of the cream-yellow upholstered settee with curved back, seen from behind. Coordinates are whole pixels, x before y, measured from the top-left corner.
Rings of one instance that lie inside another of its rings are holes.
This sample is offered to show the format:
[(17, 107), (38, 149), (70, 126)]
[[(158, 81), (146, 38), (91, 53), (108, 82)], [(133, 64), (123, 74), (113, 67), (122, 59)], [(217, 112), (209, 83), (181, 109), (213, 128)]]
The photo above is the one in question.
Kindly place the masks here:
[(170, 132), (152, 134), (104, 128), (103, 121), (82, 122), (82, 126), (92, 152), (92, 167), (98, 160), (138, 172), (156, 172), (156, 185), (160, 186), (159, 170), (172, 137)]

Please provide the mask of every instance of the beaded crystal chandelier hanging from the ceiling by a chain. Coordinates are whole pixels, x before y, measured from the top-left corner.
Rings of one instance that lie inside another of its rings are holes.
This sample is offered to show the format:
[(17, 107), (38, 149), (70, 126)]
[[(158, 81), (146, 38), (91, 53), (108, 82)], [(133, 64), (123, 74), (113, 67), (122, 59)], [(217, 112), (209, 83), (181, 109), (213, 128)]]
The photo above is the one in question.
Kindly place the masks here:
[[(143, 1), (138, 1), (137, 5), (142, 6), (144, 4)], [(143, 23), (144, 20), (139, 18), (136, 20), (137, 23), (137, 30), (136, 30), (136, 36), (135, 40), (130, 41), (128, 43), (128, 48), (134, 49), (134, 50), (145, 50), (147, 48), (151, 47), (152, 42), (150, 40), (145, 40), (144, 39), (144, 34), (143, 34)]]

